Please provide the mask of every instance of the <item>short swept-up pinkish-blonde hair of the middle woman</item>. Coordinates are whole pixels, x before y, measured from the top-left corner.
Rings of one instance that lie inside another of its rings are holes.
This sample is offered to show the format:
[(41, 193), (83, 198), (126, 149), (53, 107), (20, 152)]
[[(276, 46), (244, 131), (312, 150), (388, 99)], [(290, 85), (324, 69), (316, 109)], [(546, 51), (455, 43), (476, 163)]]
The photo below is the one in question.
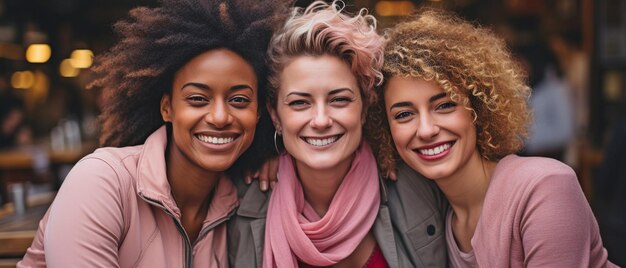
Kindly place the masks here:
[[(384, 40), (376, 32), (376, 19), (361, 9), (354, 17), (342, 13), (338, 1), (313, 2), (304, 11), (293, 8), (291, 17), (270, 41), (268, 98), (276, 107), (280, 73), (298, 56), (336, 56), (357, 78), (364, 104), (376, 101), (374, 86), (382, 83)], [(366, 106), (366, 107), (367, 107)]]

